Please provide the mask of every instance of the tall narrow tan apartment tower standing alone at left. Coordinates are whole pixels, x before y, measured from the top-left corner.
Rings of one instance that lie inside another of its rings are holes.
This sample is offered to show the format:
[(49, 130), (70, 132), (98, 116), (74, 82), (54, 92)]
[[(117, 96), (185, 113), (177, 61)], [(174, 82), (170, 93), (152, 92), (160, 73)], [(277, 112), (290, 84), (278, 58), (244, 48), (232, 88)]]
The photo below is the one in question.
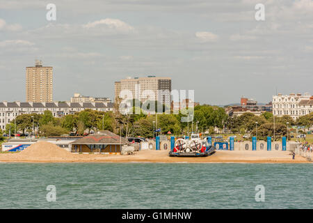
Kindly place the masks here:
[(52, 67), (43, 67), (35, 61), (34, 67), (26, 68), (26, 102), (53, 101)]

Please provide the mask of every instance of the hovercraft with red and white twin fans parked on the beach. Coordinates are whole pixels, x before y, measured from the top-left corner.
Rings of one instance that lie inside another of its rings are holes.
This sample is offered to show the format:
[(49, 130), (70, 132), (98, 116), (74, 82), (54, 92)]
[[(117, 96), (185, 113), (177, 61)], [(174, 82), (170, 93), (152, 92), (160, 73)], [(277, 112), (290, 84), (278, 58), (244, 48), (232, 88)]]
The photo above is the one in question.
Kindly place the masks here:
[(169, 156), (174, 157), (207, 157), (216, 152), (216, 148), (207, 145), (207, 141), (200, 139), (177, 139), (175, 146), (168, 153)]

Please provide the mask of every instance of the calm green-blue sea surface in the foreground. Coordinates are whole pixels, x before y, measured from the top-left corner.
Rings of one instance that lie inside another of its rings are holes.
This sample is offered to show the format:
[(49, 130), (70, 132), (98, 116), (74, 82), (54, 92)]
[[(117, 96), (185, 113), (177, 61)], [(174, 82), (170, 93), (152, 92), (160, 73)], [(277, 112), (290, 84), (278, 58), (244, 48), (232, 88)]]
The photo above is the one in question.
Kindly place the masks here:
[(0, 163), (0, 208), (313, 208), (312, 174), (312, 164)]

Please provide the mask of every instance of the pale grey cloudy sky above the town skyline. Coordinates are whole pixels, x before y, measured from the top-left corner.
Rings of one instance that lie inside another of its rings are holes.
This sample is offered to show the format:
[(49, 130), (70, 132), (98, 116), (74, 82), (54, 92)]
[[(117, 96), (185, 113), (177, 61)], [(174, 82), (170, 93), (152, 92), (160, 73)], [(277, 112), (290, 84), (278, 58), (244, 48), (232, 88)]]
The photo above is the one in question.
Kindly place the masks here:
[(35, 59), (54, 68), (56, 101), (113, 98), (115, 81), (147, 75), (209, 105), (313, 93), (313, 1), (0, 0), (0, 101), (26, 100)]

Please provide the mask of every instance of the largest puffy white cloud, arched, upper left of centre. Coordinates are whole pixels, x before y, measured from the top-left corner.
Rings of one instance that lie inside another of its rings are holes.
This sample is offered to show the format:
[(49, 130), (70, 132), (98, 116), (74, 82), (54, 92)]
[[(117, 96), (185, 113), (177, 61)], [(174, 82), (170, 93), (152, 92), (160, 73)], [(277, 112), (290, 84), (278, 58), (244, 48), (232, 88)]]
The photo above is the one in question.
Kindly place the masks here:
[(88, 22), (88, 24), (83, 25), (83, 28), (91, 29), (95, 28), (96, 26), (104, 26), (108, 29), (115, 29), (122, 32), (134, 31), (134, 27), (130, 26), (126, 22), (110, 18), (106, 18), (105, 20), (97, 20), (95, 22)]

